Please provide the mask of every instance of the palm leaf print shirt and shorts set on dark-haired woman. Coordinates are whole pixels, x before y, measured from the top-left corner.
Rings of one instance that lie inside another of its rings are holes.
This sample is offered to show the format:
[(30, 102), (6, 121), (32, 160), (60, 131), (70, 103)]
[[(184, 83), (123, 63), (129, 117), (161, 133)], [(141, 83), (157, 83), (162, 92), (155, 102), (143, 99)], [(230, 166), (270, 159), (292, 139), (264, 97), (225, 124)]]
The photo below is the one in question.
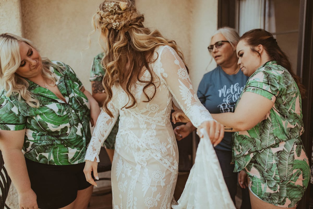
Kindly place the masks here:
[(298, 86), (284, 67), (269, 61), (250, 76), (244, 92), (262, 95), (274, 105), (254, 128), (233, 134), (234, 172), (245, 170), (250, 190), (261, 200), (294, 207), (310, 180), (300, 139), (304, 129)]

